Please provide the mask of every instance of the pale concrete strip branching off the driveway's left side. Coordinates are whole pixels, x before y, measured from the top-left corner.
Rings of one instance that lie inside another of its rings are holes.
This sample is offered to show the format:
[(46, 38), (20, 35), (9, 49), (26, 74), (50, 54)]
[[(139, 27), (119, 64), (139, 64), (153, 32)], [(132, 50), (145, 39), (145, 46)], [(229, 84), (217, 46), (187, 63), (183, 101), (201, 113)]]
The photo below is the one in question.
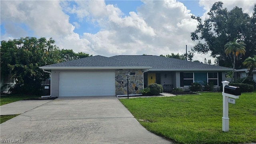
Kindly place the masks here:
[(1, 115), (23, 114), (51, 100), (20, 100), (0, 106)]

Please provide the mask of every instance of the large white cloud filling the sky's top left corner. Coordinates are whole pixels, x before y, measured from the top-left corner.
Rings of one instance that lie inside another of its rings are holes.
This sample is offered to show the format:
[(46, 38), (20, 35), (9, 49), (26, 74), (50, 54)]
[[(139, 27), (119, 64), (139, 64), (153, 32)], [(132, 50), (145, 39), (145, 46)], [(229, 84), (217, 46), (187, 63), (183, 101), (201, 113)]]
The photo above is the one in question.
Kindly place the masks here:
[[(58, 1), (1, 1), (1, 22), (26, 24), (38, 37), (60, 38), (71, 34), (74, 26), (68, 19)], [(6, 30), (7, 34), (12, 32)]]

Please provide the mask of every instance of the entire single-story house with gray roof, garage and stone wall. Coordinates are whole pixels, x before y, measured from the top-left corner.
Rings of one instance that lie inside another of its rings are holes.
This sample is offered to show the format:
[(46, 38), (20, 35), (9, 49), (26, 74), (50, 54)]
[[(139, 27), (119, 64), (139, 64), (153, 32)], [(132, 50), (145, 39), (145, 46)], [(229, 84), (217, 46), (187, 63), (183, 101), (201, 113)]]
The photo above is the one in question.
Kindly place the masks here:
[(150, 83), (188, 88), (193, 82), (216, 87), (232, 68), (161, 56), (92, 56), (40, 67), (51, 72), (51, 96), (114, 96), (139, 94)]

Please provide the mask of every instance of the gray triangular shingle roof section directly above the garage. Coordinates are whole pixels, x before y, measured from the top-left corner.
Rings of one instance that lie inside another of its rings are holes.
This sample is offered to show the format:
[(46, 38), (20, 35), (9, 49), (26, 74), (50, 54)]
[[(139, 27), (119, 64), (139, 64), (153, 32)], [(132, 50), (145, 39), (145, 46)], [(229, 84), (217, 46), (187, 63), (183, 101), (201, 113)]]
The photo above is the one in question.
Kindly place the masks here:
[[(108, 58), (105, 56), (90, 56), (87, 58), (80, 58), (78, 60), (71, 60), (68, 62), (61, 62), (57, 64), (50, 64), (45, 67), (141, 67), (144, 66), (142, 64), (126, 62), (123, 60)], [(146, 66), (146, 65), (145, 65)]]

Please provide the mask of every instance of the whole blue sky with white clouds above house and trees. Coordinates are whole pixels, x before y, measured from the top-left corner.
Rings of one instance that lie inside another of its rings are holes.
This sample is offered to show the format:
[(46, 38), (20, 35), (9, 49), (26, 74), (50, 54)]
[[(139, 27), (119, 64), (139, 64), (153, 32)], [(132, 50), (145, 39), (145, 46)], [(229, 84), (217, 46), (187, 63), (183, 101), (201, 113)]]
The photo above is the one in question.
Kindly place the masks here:
[[(92, 55), (184, 54), (190, 32), (217, 0), (0, 1), (1, 40), (53, 38), (59, 48)], [(255, 0), (225, 0), (252, 13)], [(207, 55), (196, 54), (203, 61)], [(213, 61), (213, 60), (212, 60)]]

